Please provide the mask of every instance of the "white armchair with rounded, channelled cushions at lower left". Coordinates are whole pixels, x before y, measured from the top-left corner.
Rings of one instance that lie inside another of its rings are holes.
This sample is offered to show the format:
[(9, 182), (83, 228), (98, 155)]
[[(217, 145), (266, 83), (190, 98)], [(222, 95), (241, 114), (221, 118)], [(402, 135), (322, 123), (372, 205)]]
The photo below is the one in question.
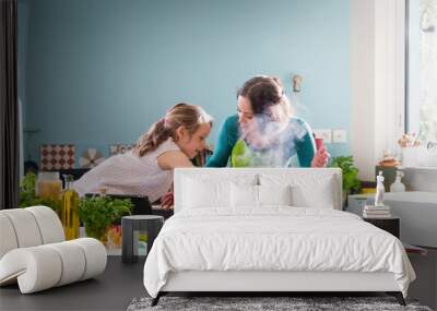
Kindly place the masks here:
[(0, 211), (0, 286), (19, 283), (21, 292), (29, 294), (105, 270), (107, 254), (101, 241), (63, 239), (62, 225), (49, 207)]

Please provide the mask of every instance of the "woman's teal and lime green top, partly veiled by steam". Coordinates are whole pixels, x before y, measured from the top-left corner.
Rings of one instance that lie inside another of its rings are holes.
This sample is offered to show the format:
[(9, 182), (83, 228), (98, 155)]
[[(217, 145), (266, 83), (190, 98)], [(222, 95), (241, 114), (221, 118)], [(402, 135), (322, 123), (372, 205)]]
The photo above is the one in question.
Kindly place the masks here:
[(280, 143), (265, 149), (252, 148), (240, 137), (238, 116), (228, 117), (218, 131), (214, 154), (206, 167), (310, 167), (316, 153), (312, 131), (302, 119), (293, 117)]

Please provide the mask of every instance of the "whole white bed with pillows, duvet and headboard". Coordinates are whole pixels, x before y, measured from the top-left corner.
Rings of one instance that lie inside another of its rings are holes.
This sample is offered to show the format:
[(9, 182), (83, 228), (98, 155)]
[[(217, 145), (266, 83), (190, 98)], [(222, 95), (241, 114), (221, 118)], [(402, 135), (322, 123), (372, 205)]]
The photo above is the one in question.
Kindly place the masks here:
[(153, 303), (168, 291), (387, 291), (404, 303), (415, 275), (402, 243), (341, 212), (341, 181), (339, 169), (177, 169), (175, 215), (144, 265)]

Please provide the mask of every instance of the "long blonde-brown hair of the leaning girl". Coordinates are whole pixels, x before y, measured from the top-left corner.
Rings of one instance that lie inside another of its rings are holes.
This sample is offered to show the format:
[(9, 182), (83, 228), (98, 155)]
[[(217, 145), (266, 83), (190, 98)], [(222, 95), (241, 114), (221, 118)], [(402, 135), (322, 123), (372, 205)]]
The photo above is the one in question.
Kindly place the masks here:
[(168, 137), (177, 142), (176, 130), (179, 127), (184, 127), (192, 135), (201, 124), (212, 127), (212, 117), (201, 107), (186, 103), (177, 104), (138, 140), (133, 154), (142, 157), (155, 151)]

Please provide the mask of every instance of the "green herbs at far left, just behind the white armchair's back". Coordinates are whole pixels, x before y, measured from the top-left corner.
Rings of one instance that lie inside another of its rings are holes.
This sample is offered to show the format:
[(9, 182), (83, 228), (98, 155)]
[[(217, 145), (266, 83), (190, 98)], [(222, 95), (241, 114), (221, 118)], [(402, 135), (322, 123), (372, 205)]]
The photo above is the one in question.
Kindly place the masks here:
[(22, 178), (20, 181), (20, 207), (44, 205), (59, 213), (61, 210), (61, 201), (35, 195), (35, 184), (36, 175), (34, 172), (27, 172)]

